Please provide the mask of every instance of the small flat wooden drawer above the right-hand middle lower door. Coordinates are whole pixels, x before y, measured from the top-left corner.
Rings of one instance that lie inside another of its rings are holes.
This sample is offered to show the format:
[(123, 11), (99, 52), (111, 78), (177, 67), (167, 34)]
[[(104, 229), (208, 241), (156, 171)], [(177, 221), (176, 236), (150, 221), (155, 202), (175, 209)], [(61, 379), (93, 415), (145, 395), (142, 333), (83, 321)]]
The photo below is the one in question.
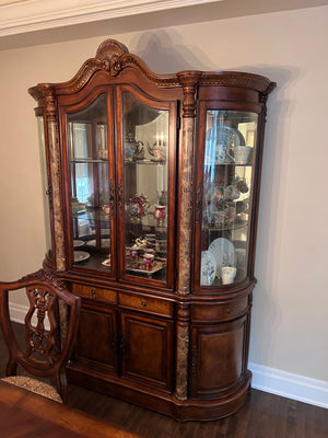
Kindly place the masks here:
[(148, 313), (173, 316), (173, 303), (157, 298), (119, 293), (119, 304), (129, 309), (142, 310)]

